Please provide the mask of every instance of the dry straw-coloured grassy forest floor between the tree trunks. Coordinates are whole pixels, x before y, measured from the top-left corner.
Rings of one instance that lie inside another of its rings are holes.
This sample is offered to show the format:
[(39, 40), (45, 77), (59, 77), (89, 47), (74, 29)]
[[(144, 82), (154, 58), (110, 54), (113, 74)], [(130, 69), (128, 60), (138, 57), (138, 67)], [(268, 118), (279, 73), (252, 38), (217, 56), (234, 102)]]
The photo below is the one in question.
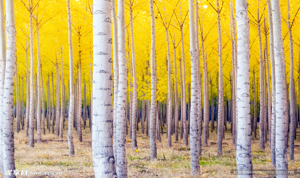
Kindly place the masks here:
[[(14, 124), (15, 125), (15, 124)], [(230, 126), (230, 124), (229, 124)], [(140, 126), (139, 126), (140, 127)], [(92, 178), (94, 177), (91, 135), (87, 127), (82, 128), (82, 142), (78, 142), (76, 131), (73, 130), (75, 156), (69, 157), (67, 142), (67, 125), (64, 129), (64, 138), (49, 133), (42, 134), (42, 142), (35, 143), (34, 148), (29, 148), (28, 137), (25, 136), (25, 130), (20, 133), (15, 131), (15, 164), (18, 170), (38, 171), (38, 172), (62, 172), (62, 175), (28, 175), (17, 176), (26, 178), (37, 177), (68, 177), (68, 178)], [(164, 128), (165, 129), (165, 128)], [(210, 130), (210, 128), (209, 128)], [(164, 130), (165, 131), (165, 130)], [(298, 130), (297, 130), (298, 131)], [(298, 133), (298, 132), (297, 132)], [(174, 142), (175, 135), (172, 136), (172, 147), (167, 147), (166, 133), (161, 136), (161, 142), (157, 141), (157, 160), (150, 161), (149, 138), (137, 132), (138, 149), (132, 150), (131, 139), (127, 136), (126, 153), (128, 165), (128, 177), (130, 178), (193, 178), (190, 176), (190, 150), (183, 143), (183, 140)], [(259, 131), (257, 130), (257, 139), (252, 138), (251, 156), (253, 169), (274, 169), (271, 165), (271, 155), (268, 143), (265, 144), (265, 150), (259, 148)], [(35, 130), (36, 139), (36, 130)], [(268, 141), (267, 141), (268, 142)], [(203, 144), (202, 144), (203, 145)], [(295, 161), (289, 160), (290, 169), (300, 167), (300, 143), (297, 137), (295, 141)], [(225, 131), (223, 139), (223, 155), (217, 156), (217, 134), (216, 129), (209, 133), (208, 147), (202, 147), (202, 156), (199, 158), (200, 174), (196, 177), (237, 177), (231, 175), (230, 170), (236, 169), (235, 148), (232, 144), (230, 131)], [(289, 149), (288, 149), (289, 154)], [(21, 173), (21, 171), (20, 171)], [(1, 176), (1, 175), (0, 175)], [(291, 175), (289, 177), (298, 177)], [(253, 175), (259, 178), (272, 178), (271, 175)]]

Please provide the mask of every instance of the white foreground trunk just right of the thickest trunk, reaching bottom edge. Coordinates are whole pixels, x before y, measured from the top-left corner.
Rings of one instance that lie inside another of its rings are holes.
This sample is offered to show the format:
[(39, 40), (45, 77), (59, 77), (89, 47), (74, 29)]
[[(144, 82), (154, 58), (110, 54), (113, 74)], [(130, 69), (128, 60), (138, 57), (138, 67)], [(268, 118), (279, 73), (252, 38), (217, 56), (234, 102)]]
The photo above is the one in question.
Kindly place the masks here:
[[(111, 22), (107, 17), (104, 21)], [(126, 157), (126, 91), (127, 91), (127, 63), (125, 47), (125, 1), (118, 1), (118, 36), (119, 36), (119, 87), (117, 101), (117, 121), (116, 121), (116, 142), (117, 142), (117, 176), (127, 178), (127, 157)], [(95, 97), (95, 96), (94, 96)]]

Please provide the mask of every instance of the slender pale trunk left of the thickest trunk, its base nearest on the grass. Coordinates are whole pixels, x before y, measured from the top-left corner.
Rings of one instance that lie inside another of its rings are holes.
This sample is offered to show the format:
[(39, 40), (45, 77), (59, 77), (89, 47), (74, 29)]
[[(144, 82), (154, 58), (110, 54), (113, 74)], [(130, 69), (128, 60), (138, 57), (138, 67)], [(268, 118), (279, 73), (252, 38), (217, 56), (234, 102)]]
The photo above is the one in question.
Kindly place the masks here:
[(68, 119), (68, 145), (69, 156), (74, 156), (73, 143), (73, 116), (74, 116), (74, 69), (73, 69), (73, 45), (72, 45), (72, 23), (71, 23), (71, 8), (70, 0), (67, 0), (67, 14), (68, 14), (68, 34), (69, 34), (69, 66), (70, 66), (70, 92), (69, 92), (69, 119)]

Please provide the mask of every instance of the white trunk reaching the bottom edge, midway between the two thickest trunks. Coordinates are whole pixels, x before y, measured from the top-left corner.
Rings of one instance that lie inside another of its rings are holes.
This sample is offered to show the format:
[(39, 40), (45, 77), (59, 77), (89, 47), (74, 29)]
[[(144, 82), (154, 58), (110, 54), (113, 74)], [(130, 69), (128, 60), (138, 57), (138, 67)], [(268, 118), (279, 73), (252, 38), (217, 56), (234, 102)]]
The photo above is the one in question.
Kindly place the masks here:
[(198, 152), (198, 124), (197, 124), (198, 52), (196, 48), (194, 0), (189, 0), (189, 25), (190, 25), (190, 63), (191, 63), (190, 168), (191, 168), (191, 174), (195, 176), (196, 174), (199, 173), (199, 152)]

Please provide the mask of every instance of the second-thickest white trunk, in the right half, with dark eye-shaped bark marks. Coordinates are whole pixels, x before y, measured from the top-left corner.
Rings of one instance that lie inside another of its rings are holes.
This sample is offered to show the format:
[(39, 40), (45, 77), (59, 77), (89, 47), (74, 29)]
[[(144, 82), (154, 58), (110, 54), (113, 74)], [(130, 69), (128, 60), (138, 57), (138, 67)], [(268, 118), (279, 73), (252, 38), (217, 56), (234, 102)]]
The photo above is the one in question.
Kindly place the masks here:
[[(236, 162), (237, 169), (247, 169), (252, 171), (250, 123), (250, 29), (247, 1), (236, 1), (235, 10), (238, 35), (237, 86), (240, 88), (237, 90), (238, 137), (236, 140)], [(252, 178), (252, 173), (238, 175), (238, 178)]]

